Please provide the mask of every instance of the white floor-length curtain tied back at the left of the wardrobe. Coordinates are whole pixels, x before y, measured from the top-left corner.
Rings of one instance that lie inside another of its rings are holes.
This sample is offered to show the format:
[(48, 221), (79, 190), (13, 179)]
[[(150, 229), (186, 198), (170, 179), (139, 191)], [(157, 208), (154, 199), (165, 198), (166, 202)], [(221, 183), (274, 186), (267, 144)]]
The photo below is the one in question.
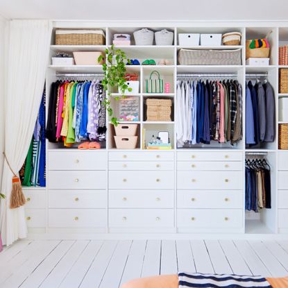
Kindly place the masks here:
[[(42, 99), (52, 24), (47, 20), (12, 20), (8, 33), (5, 153), (12, 169), (19, 171), (29, 149)], [(27, 234), (24, 207), (9, 207), (11, 189), (12, 172), (4, 162), (1, 192), (6, 199), (0, 206), (0, 231), (6, 245)]]

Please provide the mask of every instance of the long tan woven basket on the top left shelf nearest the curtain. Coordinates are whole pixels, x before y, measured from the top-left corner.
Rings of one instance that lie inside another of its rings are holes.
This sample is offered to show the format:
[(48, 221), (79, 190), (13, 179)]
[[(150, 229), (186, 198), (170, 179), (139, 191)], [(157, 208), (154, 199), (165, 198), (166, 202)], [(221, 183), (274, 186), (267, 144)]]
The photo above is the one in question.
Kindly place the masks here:
[(105, 34), (96, 29), (57, 29), (56, 45), (105, 45)]

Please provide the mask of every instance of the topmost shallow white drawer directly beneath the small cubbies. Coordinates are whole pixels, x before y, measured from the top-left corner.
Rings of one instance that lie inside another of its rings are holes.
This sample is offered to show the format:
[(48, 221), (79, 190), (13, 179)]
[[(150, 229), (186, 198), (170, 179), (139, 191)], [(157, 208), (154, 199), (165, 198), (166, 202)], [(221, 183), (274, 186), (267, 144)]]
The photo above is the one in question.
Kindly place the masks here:
[(173, 152), (110, 152), (109, 161), (173, 161)]

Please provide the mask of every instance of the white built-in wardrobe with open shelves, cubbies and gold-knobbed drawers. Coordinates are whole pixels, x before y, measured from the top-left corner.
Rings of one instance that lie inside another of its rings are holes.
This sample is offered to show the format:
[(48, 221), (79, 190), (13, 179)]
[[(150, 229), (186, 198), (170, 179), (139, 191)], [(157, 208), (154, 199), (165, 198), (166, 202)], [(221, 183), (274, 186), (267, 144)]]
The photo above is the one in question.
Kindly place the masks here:
[[(106, 148), (97, 151), (59, 149), (47, 142), (46, 188), (25, 188), (26, 219), (30, 232), (91, 233), (252, 233), (288, 232), (288, 151), (278, 150), (278, 46), (288, 44), (288, 22), (54, 22), (56, 28), (101, 28), (105, 31), (103, 46), (56, 46), (51, 40), (51, 57), (58, 51), (104, 51), (112, 44), (115, 33), (133, 34), (139, 28), (174, 33), (172, 46), (121, 46), (128, 58), (140, 62), (154, 59), (170, 60), (169, 66), (128, 66), (128, 72), (140, 75), (140, 121), (137, 149), (119, 150), (112, 141), (113, 127), (107, 119)], [(226, 33), (239, 31), (239, 46), (201, 47), (179, 46), (178, 33)], [(245, 65), (246, 39), (271, 33), (269, 66)], [(242, 65), (183, 66), (177, 65), (177, 52), (191, 49), (241, 49)], [(151, 71), (160, 72), (164, 82), (170, 82), (169, 94), (146, 94), (145, 79)], [(46, 97), (57, 73), (101, 73), (101, 66), (56, 67), (49, 65), (46, 73)], [(172, 121), (144, 121), (144, 101), (163, 96), (176, 103), (177, 74), (237, 74), (242, 84), (243, 139), (235, 146), (211, 144), (196, 148), (177, 149), (173, 109)], [(271, 143), (255, 148), (245, 145), (245, 79), (246, 74), (266, 73), (273, 86), (276, 101), (276, 137)], [(113, 99), (112, 105), (117, 102)], [(288, 95), (286, 95), (288, 96)], [(48, 106), (48, 105), (47, 105)], [(287, 111), (288, 112), (288, 111)], [(144, 149), (142, 130), (166, 130), (172, 143), (171, 151)], [(271, 209), (260, 213), (245, 211), (245, 158), (248, 153), (263, 153), (271, 166)], [(116, 234), (115, 234), (116, 235)], [(132, 235), (132, 234), (131, 234)], [(85, 236), (89, 237), (89, 236)], [(112, 236), (111, 236), (112, 237)]]

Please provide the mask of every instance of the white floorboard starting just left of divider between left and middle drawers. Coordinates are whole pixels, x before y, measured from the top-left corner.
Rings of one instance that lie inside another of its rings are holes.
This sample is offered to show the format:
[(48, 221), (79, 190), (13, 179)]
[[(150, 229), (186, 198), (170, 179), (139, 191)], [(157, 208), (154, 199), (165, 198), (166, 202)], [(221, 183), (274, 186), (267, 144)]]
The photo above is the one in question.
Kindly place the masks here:
[(81, 282), (85, 277), (87, 270), (89, 269), (94, 258), (99, 252), (102, 244), (103, 241), (100, 240), (93, 240), (88, 243), (83, 253), (74, 263), (74, 265), (71, 267), (71, 270), (69, 271), (65, 279), (62, 281), (60, 287), (78, 288), (81, 285)]

